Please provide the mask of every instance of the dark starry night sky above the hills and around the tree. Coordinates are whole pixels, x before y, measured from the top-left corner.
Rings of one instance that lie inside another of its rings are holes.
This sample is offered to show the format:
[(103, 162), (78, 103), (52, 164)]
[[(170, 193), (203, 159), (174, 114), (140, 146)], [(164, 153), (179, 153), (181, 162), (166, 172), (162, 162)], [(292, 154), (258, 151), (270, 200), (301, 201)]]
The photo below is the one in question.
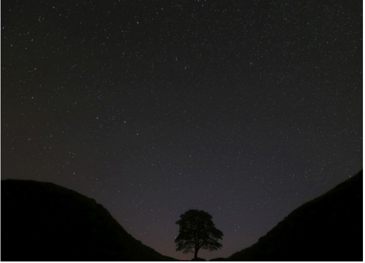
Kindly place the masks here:
[(363, 166), (360, 0), (1, 1), (1, 179), (94, 198), (175, 251), (201, 209), (226, 257)]

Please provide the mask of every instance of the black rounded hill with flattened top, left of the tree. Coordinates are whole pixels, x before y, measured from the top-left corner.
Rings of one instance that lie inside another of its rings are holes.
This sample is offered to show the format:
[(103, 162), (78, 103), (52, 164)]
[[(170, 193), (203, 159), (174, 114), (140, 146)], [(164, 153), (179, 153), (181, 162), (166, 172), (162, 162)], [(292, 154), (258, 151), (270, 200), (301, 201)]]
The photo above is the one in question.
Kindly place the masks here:
[(128, 234), (94, 199), (52, 183), (1, 182), (2, 251), (12, 261), (178, 261)]

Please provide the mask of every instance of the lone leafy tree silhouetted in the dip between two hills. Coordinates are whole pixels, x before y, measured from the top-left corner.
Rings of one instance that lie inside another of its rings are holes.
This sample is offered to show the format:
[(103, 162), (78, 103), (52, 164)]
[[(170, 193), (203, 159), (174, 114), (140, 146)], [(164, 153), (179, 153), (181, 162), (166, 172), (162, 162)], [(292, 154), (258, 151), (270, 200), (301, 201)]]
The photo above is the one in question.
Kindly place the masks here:
[(197, 259), (201, 248), (209, 251), (222, 248), (218, 239), (222, 239), (223, 233), (214, 226), (211, 218), (207, 212), (196, 209), (180, 215), (180, 220), (176, 222), (180, 226), (179, 235), (175, 239), (176, 251), (189, 253), (194, 249), (194, 259)]

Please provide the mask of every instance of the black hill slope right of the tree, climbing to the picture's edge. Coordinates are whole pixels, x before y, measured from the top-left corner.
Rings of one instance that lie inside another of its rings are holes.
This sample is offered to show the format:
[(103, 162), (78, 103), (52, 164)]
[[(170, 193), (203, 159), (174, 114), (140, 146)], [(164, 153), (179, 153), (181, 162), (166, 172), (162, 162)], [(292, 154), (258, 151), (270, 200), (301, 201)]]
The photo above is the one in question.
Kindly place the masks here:
[(363, 258), (364, 177), (362, 170), (327, 193), (300, 206), (259, 242), (228, 261), (358, 261)]

